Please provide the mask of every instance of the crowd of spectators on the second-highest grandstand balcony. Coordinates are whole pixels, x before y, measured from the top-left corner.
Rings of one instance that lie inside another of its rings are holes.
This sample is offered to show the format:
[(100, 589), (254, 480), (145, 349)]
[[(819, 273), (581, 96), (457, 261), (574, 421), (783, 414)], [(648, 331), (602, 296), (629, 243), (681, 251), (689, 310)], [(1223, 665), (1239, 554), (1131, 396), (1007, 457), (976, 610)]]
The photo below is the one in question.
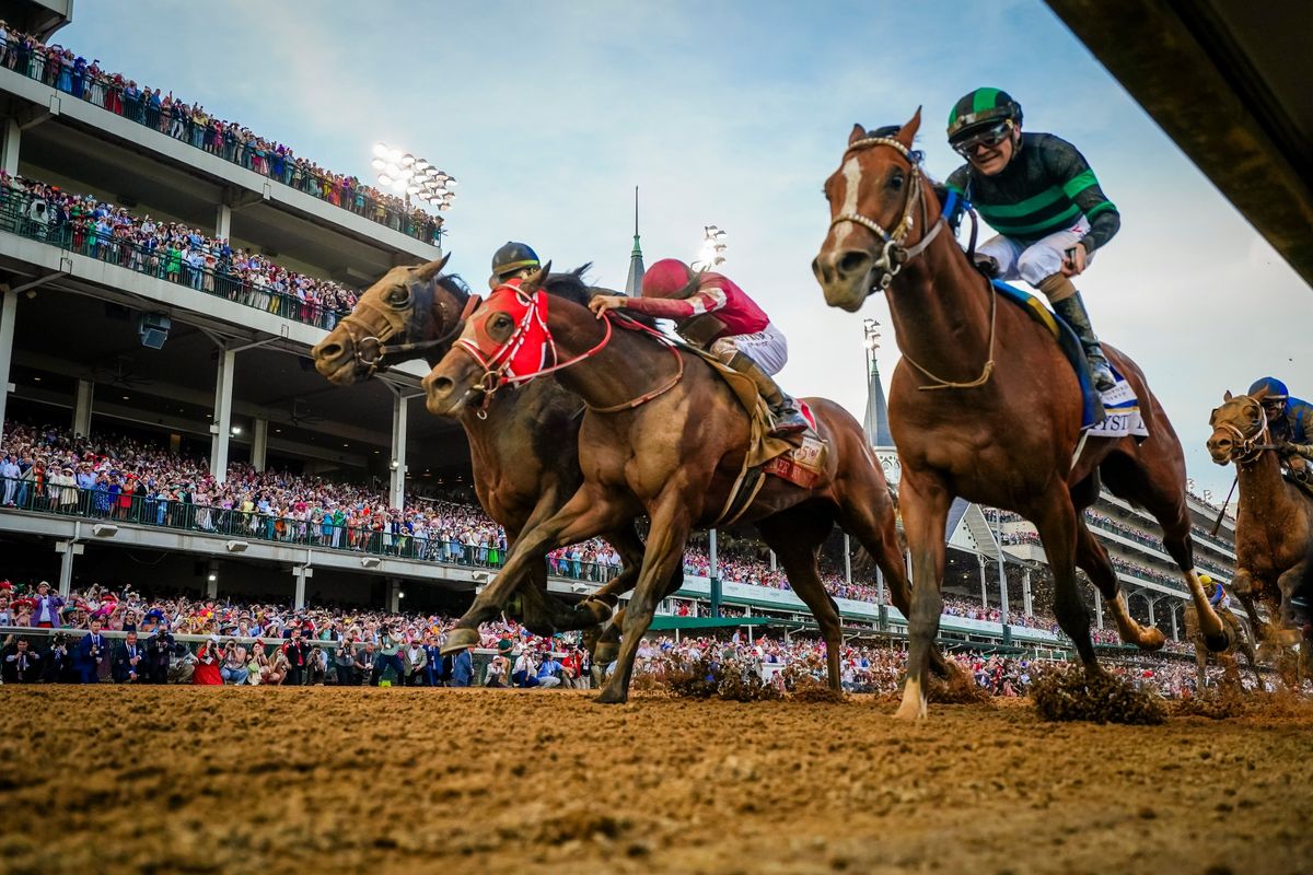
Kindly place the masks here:
[(181, 222), (137, 216), (91, 194), (0, 171), (0, 223), (26, 237), (307, 325), (332, 329), (356, 290), (282, 268)]

